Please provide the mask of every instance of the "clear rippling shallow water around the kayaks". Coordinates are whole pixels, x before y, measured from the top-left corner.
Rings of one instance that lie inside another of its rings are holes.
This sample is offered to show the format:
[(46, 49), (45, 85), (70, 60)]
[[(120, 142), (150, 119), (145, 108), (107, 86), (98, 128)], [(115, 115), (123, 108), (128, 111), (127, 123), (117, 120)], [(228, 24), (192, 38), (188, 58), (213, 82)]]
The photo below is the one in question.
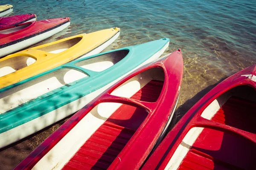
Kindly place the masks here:
[[(165, 54), (181, 48), (184, 59), (183, 84), (172, 125), (212, 87), (256, 62), (255, 0), (1, 0), (1, 3), (14, 6), (10, 15), (35, 13), (38, 20), (70, 17), (69, 28), (39, 44), (111, 27), (121, 28), (121, 34), (105, 51), (170, 38)], [(0, 159), (13, 153), (10, 159), (17, 160), (6, 168), (15, 167), (58, 126), (1, 151)]]

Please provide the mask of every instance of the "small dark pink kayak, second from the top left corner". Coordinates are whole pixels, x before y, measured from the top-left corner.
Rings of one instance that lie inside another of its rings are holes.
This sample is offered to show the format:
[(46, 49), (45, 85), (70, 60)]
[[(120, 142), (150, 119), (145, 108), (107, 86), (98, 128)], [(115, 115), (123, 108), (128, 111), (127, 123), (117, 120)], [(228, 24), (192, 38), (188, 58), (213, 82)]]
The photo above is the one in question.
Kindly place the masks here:
[(15, 26), (21, 23), (27, 23), (36, 20), (35, 14), (15, 15), (12, 17), (0, 17), (0, 28)]

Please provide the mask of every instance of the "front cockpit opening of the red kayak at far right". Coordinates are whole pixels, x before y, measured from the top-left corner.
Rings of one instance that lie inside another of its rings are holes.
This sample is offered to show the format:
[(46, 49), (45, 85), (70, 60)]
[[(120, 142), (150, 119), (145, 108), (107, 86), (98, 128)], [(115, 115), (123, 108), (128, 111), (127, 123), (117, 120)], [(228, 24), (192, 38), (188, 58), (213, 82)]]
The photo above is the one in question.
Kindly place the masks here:
[[(247, 125), (253, 127), (253, 122), (249, 123), (243, 121), (252, 121), (253, 117), (250, 116), (253, 116), (253, 108), (256, 107), (256, 105), (254, 105), (256, 103), (255, 96), (256, 90), (254, 88), (247, 85), (237, 86), (215, 99), (207, 106), (201, 116), (205, 119), (240, 128), (241, 130), (244, 130), (243, 127)], [(254, 116), (256, 115), (254, 114)], [(237, 120), (229, 121), (225, 119)], [(254, 130), (256, 130), (256, 128), (254, 128)], [(256, 133), (256, 131), (252, 133)]]

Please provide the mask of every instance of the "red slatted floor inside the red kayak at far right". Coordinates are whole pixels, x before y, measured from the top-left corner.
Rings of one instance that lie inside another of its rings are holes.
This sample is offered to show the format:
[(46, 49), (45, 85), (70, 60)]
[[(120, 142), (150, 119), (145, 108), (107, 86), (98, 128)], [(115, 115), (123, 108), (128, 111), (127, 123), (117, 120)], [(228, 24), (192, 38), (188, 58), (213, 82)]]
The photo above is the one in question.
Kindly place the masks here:
[[(212, 121), (256, 133), (254, 121), (256, 102), (230, 97), (212, 117)], [(256, 146), (250, 140), (233, 133), (204, 128), (179, 170), (254, 169)]]

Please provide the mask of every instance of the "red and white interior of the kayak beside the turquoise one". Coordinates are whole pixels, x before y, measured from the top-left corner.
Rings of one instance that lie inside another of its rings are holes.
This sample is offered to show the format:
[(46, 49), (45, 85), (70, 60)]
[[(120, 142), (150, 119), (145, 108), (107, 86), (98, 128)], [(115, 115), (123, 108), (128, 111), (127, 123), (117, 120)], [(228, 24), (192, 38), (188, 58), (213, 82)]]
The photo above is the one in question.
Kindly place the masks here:
[[(156, 102), (163, 84), (162, 68), (150, 68), (124, 82), (111, 95)], [(44, 166), (48, 169), (58, 163), (57, 169), (107, 169), (143, 124), (148, 113), (147, 109), (129, 102), (102, 101), (53, 146), (34, 168)], [(67, 142), (71, 143), (67, 145)], [(63, 156), (59, 157), (60, 154)]]

